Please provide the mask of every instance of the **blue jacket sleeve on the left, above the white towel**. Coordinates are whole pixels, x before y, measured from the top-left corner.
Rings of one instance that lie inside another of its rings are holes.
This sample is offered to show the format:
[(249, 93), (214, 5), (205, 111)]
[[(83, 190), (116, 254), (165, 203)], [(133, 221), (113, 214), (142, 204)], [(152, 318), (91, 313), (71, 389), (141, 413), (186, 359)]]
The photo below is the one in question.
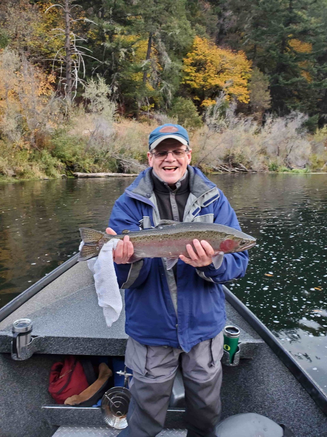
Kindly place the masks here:
[[(117, 234), (120, 234), (124, 229), (139, 230), (139, 216), (142, 218), (142, 211), (137, 202), (123, 194), (113, 205), (109, 227)], [(151, 258), (143, 258), (143, 260), (131, 264), (114, 263), (114, 266), (119, 288), (136, 288), (146, 280), (150, 271)]]

